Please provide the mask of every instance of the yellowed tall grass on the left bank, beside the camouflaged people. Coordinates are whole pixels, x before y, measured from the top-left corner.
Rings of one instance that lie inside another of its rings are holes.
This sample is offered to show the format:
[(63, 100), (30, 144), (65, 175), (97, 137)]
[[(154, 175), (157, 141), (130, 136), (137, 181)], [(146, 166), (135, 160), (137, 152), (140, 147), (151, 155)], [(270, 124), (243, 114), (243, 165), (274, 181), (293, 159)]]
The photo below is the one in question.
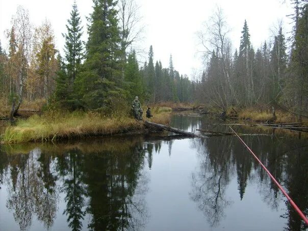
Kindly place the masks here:
[[(153, 108), (150, 121), (167, 124), (171, 109)], [(145, 115), (143, 115), (145, 117)], [(49, 112), (18, 120), (2, 135), (3, 143), (44, 142), (76, 137), (143, 132), (143, 123), (126, 116), (104, 116), (95, 112)]]

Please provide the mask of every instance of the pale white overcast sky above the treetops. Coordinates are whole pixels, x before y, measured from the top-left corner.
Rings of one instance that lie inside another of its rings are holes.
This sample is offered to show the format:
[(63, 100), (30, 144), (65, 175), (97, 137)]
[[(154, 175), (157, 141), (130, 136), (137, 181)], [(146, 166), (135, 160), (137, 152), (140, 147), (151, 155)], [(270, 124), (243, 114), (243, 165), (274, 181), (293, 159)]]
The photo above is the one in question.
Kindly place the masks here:
[[(290, 31), (292, 6), (282, 0), (136, 0), (140, 5), (140, 16), (145, 25), (144, 39), (138, 45), (147, 56), (149, 46), (153, 46), (154, 59), (161, 60), (168, 67), (172, 54), (173, 65), (180, 74), (191, 75), (195, 69), (199, 73), (202, 60), (197, 56), (198, 40), (196, 32), (202, 29), (202, 22), (213, 14), (217, 6), (223, 9), (229, 27), (234, 49), (239, 47), (244, 20), (247, 20), (251, 42), (255, 48), (271, 36), (270, 29), (283, 20), (285, 32)], [(284, 3), (283, 3), (284, 2)], [(84, 25), (86, 40), (86, 16), (92, 12), (92, 0), (76, 0)], [(36, 26), (47, 18), (53, 25), (56, 46), (62, 52), (73, 0), (0, 0), (0, 40), (7, 48), (5, 30), (11, 28), (12, 15), (18, 5), (29, 10), (30, 20)], [(144, 60), (142, 60), (144, 61)]]

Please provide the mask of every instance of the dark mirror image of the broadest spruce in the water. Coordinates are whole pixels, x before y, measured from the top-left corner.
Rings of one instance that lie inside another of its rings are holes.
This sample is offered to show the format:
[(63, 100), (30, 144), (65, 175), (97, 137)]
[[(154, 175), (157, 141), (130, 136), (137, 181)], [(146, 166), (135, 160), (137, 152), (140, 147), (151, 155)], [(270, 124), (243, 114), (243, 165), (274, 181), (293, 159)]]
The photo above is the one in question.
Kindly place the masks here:
[[(92, 215), (89, 229), (138, 229), (142, 225), (146, 216), (145, 204), (142, 200), (134, 200), (134, 194), (143, 158), (142, 144), (124, 153), (94, 152), (87, 156), (83, 171), (89, 196), (87, 212)], [(142, 219), (137, 219), (134, 213)]]

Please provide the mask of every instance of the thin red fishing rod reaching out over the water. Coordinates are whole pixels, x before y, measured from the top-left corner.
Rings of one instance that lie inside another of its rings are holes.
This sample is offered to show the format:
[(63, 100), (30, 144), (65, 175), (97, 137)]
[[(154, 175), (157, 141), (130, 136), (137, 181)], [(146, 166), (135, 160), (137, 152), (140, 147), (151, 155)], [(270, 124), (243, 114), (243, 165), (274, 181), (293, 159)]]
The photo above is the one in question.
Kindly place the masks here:
[[(230, 126), (229, 126), (230, 127)], [(271, 179), (273, 180), (273, 182), (278, 186), (278, 188), (281, 190), (281, 192), (283, 192), (283, 194), (287, 197), (287, 199), (289, 200), (289, 202), (291, 203), (292, 207), (295, 209), (295, 211), (299, 214), (299, 216), (305, 221), (306, 225), (308, 225), (308, 219), (306, 218), (306, 216), (303, 214), (303, 212), (301, 212), (301, 210), (298, 208), (298, 206), (294, 203), (294, 201), (291, 199), (291, 197), (286, 193), (286, 191), (284, 190), (283, 187), (281, 187), (281, 185), (276, 181), (275, 177), (269, 172), (269, 170), (267, 170), (267, 168), (264, 166), (264, 164), (262, 164), (262, 162), (259, 160), (258, 157), (255, 156), (255, 154), (253, 153), (253, 151), (247, 146), (247, 144), (241, 139), (241, 137), (232, 129), (232, 127), (230, 127), (230, 129), (235, 133), (235, 135), (239, 138), (239, 140), (241, 141), (241, 143), (249, 150), (249, 152), (252, 154), (252, 156), (254, 157), (254, 159), (256, 159), (259, 164), (262, 166), (262, 168), (267, 172), (267, 174), (271, 177)]]

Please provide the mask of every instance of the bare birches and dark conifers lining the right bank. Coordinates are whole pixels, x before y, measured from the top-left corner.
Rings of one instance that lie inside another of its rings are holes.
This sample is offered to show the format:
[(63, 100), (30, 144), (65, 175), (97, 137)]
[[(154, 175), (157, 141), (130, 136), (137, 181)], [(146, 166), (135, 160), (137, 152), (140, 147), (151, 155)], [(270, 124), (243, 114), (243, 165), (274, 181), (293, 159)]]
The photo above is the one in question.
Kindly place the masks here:
[(294, 27), (290, 40), (279, 25), (272, 41), (254, 49), (245, 20), (240, 47), (235, 53), (222, 10), (217, 10), (206, 29), (198, 33), (207, 61), (198, 85), (199, 99), (206, 97), (223, 110), (233, 105), (271, 104), (307, 115), (308, 4), (292, 2), (295, 13), (291, 15)]

